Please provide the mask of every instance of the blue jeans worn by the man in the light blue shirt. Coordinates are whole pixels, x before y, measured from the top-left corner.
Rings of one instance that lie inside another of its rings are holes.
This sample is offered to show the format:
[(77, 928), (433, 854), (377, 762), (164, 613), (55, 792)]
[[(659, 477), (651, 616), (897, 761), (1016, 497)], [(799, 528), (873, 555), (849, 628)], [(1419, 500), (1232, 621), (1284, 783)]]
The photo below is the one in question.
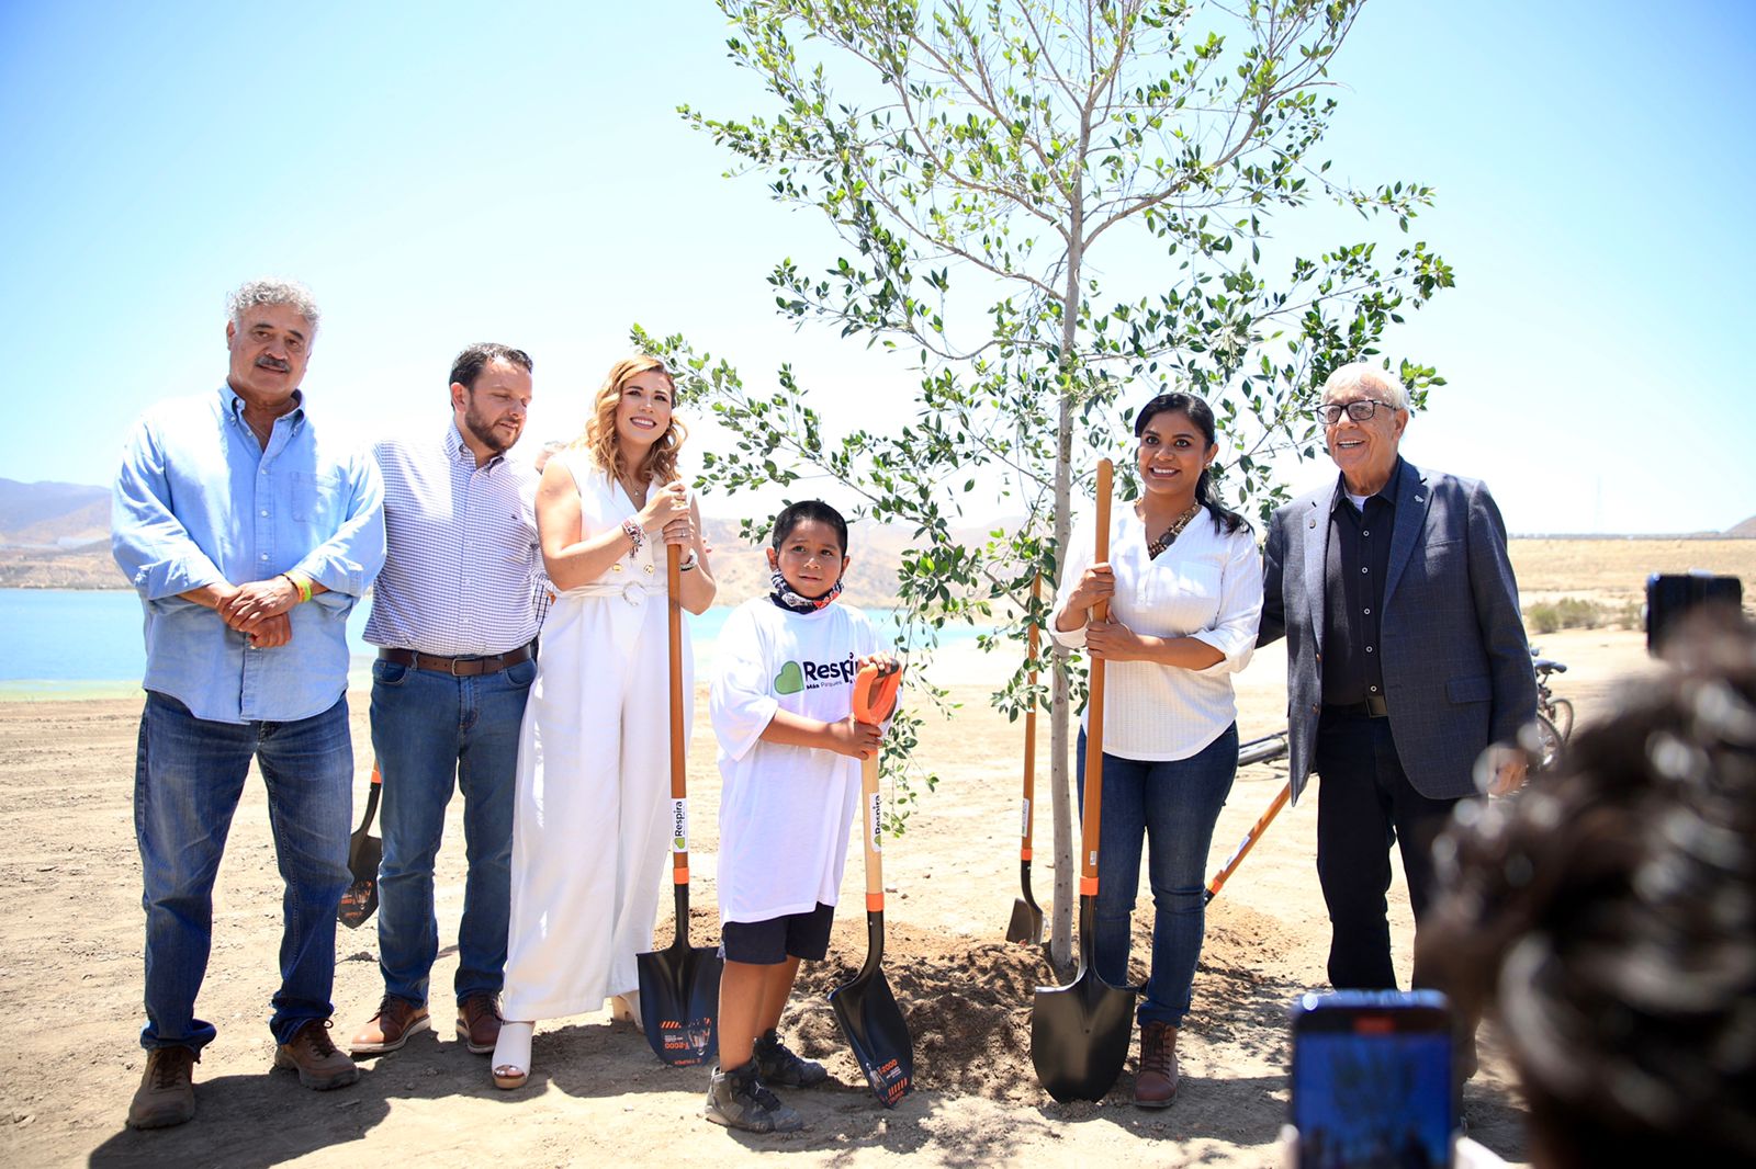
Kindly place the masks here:
[(353, 742), (348, 697), (291, 723), (216, 723), (148, 692), (133, 771), (133, 832), (146, 886), (146, 1030), (140, 1046), (202, 1050), (214, 1025), (195, 1018), (212, 948), (212, 888), (251, 758), (269, 790), (281, 899), (277, 1043), (328, 1018), (335, 983), (335, 906), (348, 888)]

